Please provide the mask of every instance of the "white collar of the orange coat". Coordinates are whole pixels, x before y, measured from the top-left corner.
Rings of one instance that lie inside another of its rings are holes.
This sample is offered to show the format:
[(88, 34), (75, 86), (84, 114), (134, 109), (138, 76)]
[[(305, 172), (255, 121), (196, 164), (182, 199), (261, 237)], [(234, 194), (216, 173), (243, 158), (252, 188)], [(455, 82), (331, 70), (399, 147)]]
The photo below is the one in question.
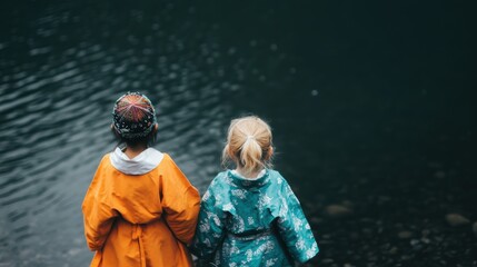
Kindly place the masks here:
[(110, 155), (111, 165), (126, 175), (143, 175), (153, 170), (163, 158), (163, 154), (155, 148), (148, 148), (130, 159), (118, 147)]

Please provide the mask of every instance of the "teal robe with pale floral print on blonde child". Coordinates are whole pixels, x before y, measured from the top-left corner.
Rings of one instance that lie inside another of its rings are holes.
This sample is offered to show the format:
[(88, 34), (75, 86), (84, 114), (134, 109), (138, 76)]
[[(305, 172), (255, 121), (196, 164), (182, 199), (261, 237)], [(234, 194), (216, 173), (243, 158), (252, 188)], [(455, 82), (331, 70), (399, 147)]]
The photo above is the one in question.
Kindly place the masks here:
[(300, 204), (278, 171), (220, 172), (202, 197), (191, 251), (217, 266), (294, 266), (318, 254)]

